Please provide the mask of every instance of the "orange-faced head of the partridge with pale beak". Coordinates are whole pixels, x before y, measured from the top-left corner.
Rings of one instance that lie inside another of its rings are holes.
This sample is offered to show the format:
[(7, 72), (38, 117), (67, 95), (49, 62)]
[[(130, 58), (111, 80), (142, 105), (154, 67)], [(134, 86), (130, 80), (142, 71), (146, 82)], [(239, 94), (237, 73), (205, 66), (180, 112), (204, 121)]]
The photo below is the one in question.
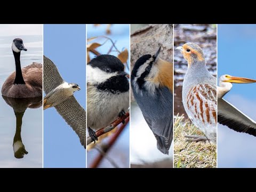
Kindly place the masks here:
[(176, 49), (181, 51), (183, 57), (188, 61), (188, 66), (197, 61), (204, 61), (203, 50), (195, 43), (186, 43)]

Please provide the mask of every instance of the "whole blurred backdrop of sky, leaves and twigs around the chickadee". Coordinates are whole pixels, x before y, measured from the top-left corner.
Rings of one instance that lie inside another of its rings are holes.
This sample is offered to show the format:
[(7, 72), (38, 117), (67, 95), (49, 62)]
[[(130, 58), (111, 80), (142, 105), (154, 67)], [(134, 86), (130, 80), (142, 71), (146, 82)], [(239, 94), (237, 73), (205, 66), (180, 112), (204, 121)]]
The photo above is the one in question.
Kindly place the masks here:
[[(130, 25), (87, 25), (87, 62), (99, 54), (115, 55), (124, 63), (126, 73), (130, 74)], [(119, 131), (121, 133), (117, 135)], [(114, 142), (110, 145), (111, 141)], [(106, 154), (100, 152), (103, 148), (107, 148)], [(87, 146), (87, 167), (130, 167), (129, 122), (125, 126), (119, 124), (114, 130), (101, 135), (96, 144)]]

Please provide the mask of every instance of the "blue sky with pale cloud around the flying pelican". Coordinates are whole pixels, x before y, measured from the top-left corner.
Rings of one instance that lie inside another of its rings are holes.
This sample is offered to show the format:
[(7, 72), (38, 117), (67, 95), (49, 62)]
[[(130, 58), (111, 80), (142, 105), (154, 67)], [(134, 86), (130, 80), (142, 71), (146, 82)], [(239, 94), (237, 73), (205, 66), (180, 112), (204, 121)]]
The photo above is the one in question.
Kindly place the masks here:
[[(218, 25), (218, 76), (256, 79), (256, 25)], [(256, 120), (256, 84), (233, 84), (225, 99)], [(256, 167), (256, 138), (218, 124), (218, 167)]]

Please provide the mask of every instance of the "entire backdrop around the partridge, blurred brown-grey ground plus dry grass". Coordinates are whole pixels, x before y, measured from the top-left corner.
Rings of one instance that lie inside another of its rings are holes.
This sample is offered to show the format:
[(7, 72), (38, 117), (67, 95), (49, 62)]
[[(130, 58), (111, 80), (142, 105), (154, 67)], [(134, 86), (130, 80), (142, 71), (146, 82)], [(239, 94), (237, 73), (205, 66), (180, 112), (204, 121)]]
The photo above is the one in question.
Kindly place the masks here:
[[(217, 25), (175, 24), (174, 50), (185, 43), (199, 45), (210, 73), (217, 73)], [(217, 167), (216, 146), (209, 142), (188, 142), (184, 135), (203, 135), (190, 121), (182, 103), (182, 84), (188, 62), (174, 52), (174, 167)], [(216, 82), (217, 83), (217, 82)]]

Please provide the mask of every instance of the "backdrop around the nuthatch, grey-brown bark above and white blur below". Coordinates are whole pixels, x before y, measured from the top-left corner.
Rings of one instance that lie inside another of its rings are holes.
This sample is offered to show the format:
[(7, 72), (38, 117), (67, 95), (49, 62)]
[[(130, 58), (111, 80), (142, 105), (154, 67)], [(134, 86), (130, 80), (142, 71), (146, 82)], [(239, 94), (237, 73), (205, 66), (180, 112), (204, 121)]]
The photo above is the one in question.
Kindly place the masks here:
[[(173, 25), (131, 25), (131, 70), (142, 55), (155, 54), (162, 44), (160, 58), (173, 62)], [(156, 138), (146, 123), (131, 91), (131, 167), (172, 167), (173, 143), (169, 155), (162, 154), (156, 145)]]

